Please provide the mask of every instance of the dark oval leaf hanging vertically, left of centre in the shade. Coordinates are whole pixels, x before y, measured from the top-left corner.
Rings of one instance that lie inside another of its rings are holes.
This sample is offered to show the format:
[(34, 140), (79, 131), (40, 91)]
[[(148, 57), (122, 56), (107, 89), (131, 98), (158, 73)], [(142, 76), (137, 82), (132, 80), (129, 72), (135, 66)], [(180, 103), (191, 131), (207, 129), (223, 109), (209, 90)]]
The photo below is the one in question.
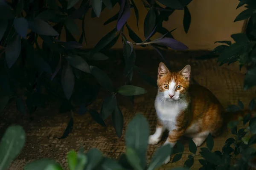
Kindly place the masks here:
[(61, 85), (65, 96), (70, 99), (75, 85), (75, 77), (69, 63), (62, 69)]

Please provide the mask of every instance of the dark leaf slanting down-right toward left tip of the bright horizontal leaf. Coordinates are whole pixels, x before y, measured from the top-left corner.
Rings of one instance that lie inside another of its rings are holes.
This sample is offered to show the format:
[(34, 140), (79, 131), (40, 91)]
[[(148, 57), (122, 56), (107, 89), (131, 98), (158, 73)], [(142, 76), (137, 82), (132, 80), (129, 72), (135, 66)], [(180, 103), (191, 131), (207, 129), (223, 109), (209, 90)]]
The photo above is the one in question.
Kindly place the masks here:
[(95, 67), (95, 66), (90, 66), (91, 73), (95, 77), (95, 79), (99, 82), (99, 84), (105, 88), (108, 91), (115, 91), (115, 88), (113, 86), (112, 80), (108, 77), (105, 71), (102, 71), (101, 69)]

